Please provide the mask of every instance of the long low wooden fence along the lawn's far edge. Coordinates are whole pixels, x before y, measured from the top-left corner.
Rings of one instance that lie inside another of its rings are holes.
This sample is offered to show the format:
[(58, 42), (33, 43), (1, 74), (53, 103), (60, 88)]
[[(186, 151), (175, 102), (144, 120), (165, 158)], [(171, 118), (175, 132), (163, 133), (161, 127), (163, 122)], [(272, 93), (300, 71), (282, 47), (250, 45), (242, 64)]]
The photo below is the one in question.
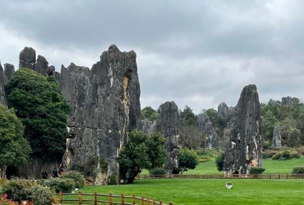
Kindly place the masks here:
[(304, 179), (304, 174), (139, 174), (137, 179)]

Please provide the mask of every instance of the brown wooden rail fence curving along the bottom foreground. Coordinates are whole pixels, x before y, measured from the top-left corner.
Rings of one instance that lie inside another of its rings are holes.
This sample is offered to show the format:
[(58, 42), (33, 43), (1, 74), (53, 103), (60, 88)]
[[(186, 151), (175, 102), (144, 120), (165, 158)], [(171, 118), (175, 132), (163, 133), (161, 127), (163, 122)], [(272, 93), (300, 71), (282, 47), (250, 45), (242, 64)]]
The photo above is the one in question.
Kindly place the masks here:
[[(109, 194), (97, 194), (96, 192), (94, 192), (94, 193), (82, 193), (81, 191), (79, 191), (78, 193), (62, 193), (62, 192), (59, 192), (59, 193), (56, 193), (56, 195), (58, 196), (57, 200), (59, 201), (59, 203), (62, 203), (63, 201), (78, 201), (79, 204), (83, 204), (84, 201), (91, 201), (91, 202), (94, 202), (94, 205), (97, 205), (97, 202), (106, 203), (106, 204), (109, 204), (109, 205), (113, 205), (113, 204), (173, 205), (173, 202), (169, 202), (168, 204), (165, 204), (165, 203), (163, 203), (162, 200), (156, 201), (155, 198), (150, 198), (150, 197), (145, 198), (144, 196), (136, 197), (136, 195), (125, 196), (124, 194), (113, 195), (111, 193), (109, 193)], [(66, 196), (66, 195), (70, 195), (70, 196), (71, 195), (74, 195), (74, 196), (78, 195), (78, 199), (76, 199), (76, 198), (75, 199), (64, 198), (64, 196)], [(83, 199), (83, 196), (92, 196), (92, 198), (94, 198), (94, 199)], [(130, 201), (130, 202), (126, 202), (126, 201)]]

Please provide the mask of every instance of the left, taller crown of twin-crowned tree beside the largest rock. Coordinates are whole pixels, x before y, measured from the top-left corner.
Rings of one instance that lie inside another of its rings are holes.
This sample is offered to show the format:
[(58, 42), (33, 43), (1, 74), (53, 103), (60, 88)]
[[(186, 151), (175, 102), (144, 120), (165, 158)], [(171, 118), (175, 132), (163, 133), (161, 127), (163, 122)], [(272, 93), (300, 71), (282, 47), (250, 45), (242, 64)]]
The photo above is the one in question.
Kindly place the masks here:
[(142, 169), (149, 169), (151, 162), (147, 153), (147, 135), (139, 130), (129, 133), (127, 144), (121, 149), (117, 162), (119, 163), (119, 174), (127, 183), (133, 183), (136, 175)]

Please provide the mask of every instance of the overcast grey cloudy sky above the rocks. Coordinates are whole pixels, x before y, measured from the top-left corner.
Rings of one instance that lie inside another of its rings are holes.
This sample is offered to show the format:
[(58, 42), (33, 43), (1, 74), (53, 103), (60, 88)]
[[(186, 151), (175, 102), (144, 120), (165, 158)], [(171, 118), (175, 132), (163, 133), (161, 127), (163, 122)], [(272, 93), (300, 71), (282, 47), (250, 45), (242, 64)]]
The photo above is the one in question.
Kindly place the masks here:
[(304, 1), (0, 0), (0, 59), (18, 67), (31, 46), (57, 71), (91, 67), (116, 44), (135, 50), (142, 108), (175, 101), (195, 113), (237, 103), (304, 98)]

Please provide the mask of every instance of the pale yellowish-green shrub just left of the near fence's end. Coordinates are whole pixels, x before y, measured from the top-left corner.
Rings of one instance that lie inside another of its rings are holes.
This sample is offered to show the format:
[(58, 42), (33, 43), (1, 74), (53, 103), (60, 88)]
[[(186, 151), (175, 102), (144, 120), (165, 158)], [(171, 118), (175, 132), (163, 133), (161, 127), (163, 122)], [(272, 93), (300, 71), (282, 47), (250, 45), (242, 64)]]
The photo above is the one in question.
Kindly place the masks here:
[(34, 184), (30, 188), (30, 198), (36, 205), (48, 205), (52, 200), (52, 195), (54, 194), (54, 190), (47, 186), (42, 186), (39, 184)]

